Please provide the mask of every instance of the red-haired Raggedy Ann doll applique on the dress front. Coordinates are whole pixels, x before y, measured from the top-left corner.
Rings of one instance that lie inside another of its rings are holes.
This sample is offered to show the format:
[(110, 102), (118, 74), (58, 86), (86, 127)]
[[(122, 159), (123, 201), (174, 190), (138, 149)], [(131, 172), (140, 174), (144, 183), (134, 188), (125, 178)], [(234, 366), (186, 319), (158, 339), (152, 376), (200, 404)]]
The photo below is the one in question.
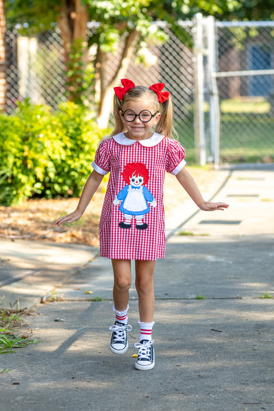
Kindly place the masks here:
[(125, 220), (119, 223), (119, 227), (131, 228), (132, 219), (135, 216), (136, 228), (146, 229), (147, 223), (144, 223), (143, 219), (150, 211), (149, 204), (152, 207), (157, 206), (153, 195), (145, 187), (149, 181), (149, 171), (145, 164), (132, 162), (125, 166), (122, 175), (127, 186), (116, 195), (113, 201), (114, 206), (120, 204), (119, 210), (124, 214)]

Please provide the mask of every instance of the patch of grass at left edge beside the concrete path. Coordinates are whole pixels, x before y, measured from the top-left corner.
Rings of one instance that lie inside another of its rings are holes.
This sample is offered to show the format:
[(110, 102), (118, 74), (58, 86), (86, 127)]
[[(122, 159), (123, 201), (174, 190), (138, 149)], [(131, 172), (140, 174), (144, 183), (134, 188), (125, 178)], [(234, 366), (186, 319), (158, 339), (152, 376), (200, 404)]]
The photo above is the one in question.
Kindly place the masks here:
[[(18, 303), (17, 303), (18, 304)], [(20, 309), (17, 305), (16, 310), (4, 308), (0, 309), (0, 354), (15, 353), (16, 349), (27, 347), (29, 344), (36, 344), (38, 340), (32, 340), (26, 334), (18, 335), (16, 329), (23, 324), (21, 314), (26, 309)], [(3, 369), (1, 373), (8, 373), (8, 369)]]

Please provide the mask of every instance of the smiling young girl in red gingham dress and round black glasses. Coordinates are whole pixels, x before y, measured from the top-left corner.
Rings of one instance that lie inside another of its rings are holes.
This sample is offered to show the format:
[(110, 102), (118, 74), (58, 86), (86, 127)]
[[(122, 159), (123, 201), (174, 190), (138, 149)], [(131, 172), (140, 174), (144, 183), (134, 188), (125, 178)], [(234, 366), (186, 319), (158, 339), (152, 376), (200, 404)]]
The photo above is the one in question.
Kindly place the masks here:
[[(55, 221), (73, 223), (80, 219), (95, 194), (103, 175), (110, 173), (100, 220), (101, 256), (112, 259), (114, 272), (114, 325), (110, 327), (110, 350), (127, 351), (129, 288), (132, 284), (131, 260), (135, 260), (136, 290), (140, 314), (140, 343), (136, 369), (152, 369), (155, 260), (164, 258), (163, 186), (165, 171), (179, 183), (201, 210), (224, 210), (226, 203), (205, 201), (194, 179), (184, 167), (185, 152), (171, 138), (173, 108), (164, 84), (149, 88), (122, 79), (114, 88), (116, 127), (101, 142), (93, 171), (74, 212)], [(153, 131), (155, 130), (155, 131)]]

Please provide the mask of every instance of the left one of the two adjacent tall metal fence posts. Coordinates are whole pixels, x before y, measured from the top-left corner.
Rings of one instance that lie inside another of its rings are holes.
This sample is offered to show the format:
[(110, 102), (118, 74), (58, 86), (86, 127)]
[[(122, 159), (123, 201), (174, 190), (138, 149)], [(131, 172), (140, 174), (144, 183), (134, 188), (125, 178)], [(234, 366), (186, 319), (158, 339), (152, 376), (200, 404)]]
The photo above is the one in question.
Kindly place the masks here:
[(201, 166), (206, 164), (206, 140), (204, 127), (204, 90), (203, 90), (203, 20), (200, 13), (195, 15), (194, 23), (194, 129), (195, 129), (195, 158)]

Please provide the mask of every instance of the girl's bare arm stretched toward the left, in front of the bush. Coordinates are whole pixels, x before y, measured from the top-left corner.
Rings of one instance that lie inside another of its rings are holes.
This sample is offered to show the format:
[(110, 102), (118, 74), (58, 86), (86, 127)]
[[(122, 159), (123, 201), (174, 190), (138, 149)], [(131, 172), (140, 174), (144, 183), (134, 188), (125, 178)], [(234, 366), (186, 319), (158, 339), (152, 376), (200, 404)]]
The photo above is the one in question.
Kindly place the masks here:
[(88, 207), (88, 204), (90, 203), (90, 200), (97, 191), (97, 188), (101, 184), (102, 179), (103, 175), (97, 173), (97, 171), (95, 170), (92, 171), (92, 173), (86, 180), (86, 184), (84, 186), (84, 190), (79, 199), (79, 203), (76, 210), (71, 212), (70, 214), (67, 214), (66, 216), (60, 217), (60, 219), (56, 220), (54, 224), (61, 225), (66, 221), (68, 223), (73, 223), (73, 221), (79, 220), (82, 217), (82, 214), (84, 214), (86, 208)]

